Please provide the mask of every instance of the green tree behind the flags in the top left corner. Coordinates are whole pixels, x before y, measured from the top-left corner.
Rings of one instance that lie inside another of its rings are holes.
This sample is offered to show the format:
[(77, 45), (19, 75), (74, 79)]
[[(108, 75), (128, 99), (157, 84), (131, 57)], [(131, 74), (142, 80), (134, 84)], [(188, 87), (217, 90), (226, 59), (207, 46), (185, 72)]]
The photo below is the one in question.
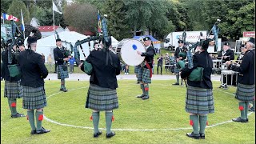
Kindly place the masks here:
[(20, 20), (18, 24), (21, 24), (22, 22), (21, 9), (23, 13), (24, 22), (26, 24), (30, 23), (30, 12), (29, 10), (26, 9), (26, 6), (22, 1), (14, 0), (13, 2), (11, 2), (8, 9), (8, 14), (9, 15), (11, 14), (14, 17), (18, 18)]

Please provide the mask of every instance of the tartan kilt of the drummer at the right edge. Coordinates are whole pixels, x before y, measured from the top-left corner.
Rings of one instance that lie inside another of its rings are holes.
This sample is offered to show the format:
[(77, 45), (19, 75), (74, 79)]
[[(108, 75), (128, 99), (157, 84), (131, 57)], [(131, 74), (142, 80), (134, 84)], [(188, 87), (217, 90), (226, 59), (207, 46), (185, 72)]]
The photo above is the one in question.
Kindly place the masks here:
[(239, 101), (250, 102), (255, 98), (255, 85), (244, 85), (238, 82), (235, 98)]

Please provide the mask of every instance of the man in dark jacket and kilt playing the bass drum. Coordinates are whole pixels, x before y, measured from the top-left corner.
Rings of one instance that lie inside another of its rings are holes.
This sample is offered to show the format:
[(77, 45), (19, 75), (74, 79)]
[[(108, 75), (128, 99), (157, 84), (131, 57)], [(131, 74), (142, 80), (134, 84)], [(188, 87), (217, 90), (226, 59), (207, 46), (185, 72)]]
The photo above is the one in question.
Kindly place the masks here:
[(155, 50), (154, 47), (151, 46), (151, 38), (145, 37), (143, 38), (144, 45), (146, 46), (146, 52), (142, 53), (141, 51), (137, 51), (137, 54), (140, 54), (142, 57), (145, 57), (144, 62), (142, 62), (141, 66), (138, 67), (138, 82), (140, 82), (142, 95), (137, 96), (137, 98), (142, 98), (142, 100), (146, 100), (150, 98), (149, 95), (149, 83), (151, 83), (152, 77), (152, 68), (153, 68), (153, 60)]

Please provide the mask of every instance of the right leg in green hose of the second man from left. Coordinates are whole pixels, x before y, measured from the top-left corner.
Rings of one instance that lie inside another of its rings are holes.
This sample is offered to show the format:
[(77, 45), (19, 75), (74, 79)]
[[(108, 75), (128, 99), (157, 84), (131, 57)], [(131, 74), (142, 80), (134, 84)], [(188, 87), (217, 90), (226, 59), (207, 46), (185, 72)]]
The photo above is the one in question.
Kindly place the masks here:
[(44, 134), (50, 132), (50, 130), (46, 130), (44, 127), (42, 127), (42, 120), (43, 120), (43, 110), (42, 109), (37, 109), (35, 112), (35, 118), (37, 121), (37, 128), (36, 128), (36, 133), (37, 134)]

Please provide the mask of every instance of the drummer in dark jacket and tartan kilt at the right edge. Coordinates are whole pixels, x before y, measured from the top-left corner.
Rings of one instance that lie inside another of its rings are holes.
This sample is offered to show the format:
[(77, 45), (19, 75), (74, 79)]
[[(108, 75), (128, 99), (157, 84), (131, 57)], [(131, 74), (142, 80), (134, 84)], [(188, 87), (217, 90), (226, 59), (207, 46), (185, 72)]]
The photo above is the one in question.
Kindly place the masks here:
[(250, 38), (246, 42), (246, 53), (242, 58), (242, 63), (240, 66), (235, 66), (231, 62), (226, 62), (226, 65), (230, 70), (237, 71), (238, 74), (238, 88), (235, 98), (238, 99), (240, 117), (233, 118), (234, 122), (249, 122), (248, 121), (248, 107), (250, 101), (255, 101), (255, 39)]

